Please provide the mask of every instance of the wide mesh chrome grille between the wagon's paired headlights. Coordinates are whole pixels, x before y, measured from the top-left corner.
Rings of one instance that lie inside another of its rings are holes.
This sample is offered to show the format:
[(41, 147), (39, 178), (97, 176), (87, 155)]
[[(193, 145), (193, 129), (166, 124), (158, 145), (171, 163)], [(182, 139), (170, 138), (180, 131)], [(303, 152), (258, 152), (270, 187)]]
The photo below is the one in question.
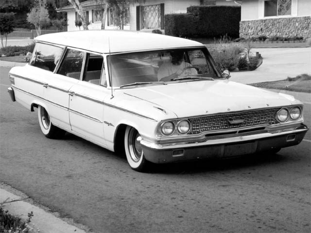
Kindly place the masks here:
[[(275, 118), (280, 108), (250, 110), (238, 113), (218, 114), (189, 118), (191, 128), (188, 134), (196, 134), (213, 130), (236, 129), (257, 125), (277, 124)], [(242, 123), (230, 124), (229, 120), (243, 119)]]

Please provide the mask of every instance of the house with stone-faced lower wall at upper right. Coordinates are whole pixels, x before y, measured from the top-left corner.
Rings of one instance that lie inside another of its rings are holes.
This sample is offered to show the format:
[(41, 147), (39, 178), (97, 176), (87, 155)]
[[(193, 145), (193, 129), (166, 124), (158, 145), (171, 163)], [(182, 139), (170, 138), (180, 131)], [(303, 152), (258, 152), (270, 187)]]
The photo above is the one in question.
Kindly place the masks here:
[(240, 37), (311, 37), (311, 0), (240, 0)]

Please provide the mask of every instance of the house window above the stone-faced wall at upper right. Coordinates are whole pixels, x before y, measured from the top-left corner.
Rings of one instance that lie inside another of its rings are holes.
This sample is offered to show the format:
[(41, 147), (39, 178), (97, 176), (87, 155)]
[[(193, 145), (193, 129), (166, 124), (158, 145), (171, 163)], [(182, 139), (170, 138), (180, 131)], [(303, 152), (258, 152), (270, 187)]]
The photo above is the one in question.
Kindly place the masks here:
[(292, 13), (292, 0), (265, 0), (264, 16), (288, 16)]

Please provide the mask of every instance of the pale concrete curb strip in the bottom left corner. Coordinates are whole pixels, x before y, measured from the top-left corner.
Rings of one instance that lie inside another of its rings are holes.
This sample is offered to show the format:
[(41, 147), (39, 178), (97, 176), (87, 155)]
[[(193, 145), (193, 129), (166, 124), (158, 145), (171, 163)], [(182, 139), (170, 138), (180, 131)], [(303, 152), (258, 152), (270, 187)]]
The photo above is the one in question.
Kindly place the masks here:
[(28, 218), (28, 213), (33, 212), (34, 216), (31, 218), (30, 225), (31, 227), (34, 226), (33, 228), (35, 232), (38, 232), (39, 230), (40, 233), (86, 233), (85, 231), (69, 225), (60, 218), (47, 213), (43, 209), (23, 201), (22, 199), (22, 197), (0, 188), (0, 203), (5, 200), (19, 200), (3, 205), (3, 208), (8, 210), (10, 214), (19, 216), (20, 218), (26, 220)]

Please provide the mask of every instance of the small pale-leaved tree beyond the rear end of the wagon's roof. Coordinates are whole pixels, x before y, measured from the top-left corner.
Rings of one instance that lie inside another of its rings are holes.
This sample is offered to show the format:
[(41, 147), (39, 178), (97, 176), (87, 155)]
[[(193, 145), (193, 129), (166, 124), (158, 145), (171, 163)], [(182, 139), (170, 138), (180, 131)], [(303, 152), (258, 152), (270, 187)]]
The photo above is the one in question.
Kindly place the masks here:
[(27, 21), (35, 25), (37, 35), (40, 35), (41, 28), (49, 25), (51, 21), (45, 4), (46, 0), (38, 0), (36, 6), (27, 14)]

